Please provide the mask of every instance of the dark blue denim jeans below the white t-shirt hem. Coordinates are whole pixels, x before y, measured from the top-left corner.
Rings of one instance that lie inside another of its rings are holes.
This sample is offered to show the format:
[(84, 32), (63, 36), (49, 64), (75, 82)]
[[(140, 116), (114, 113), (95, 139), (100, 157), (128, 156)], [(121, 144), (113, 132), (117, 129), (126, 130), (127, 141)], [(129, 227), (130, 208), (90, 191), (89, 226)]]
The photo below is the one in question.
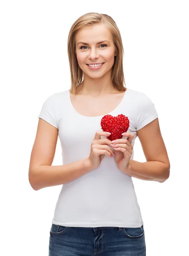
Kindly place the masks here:
[(49, 256), (145, 256), (142, 227), (64, 227), (52, 224)]

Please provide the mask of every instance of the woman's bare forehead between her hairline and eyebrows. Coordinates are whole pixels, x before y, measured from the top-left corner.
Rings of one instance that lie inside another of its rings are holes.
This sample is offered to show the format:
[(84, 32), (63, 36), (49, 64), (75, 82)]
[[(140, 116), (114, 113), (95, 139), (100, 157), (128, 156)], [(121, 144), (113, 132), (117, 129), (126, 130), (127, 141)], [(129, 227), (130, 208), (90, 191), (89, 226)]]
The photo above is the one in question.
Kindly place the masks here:
[(102, 40), (112, 41), (110, 30), (105, 24), (95, 24), (84, 29), (80, 29), (76, 34), (76, 44), (78, 41), (99, 42)]

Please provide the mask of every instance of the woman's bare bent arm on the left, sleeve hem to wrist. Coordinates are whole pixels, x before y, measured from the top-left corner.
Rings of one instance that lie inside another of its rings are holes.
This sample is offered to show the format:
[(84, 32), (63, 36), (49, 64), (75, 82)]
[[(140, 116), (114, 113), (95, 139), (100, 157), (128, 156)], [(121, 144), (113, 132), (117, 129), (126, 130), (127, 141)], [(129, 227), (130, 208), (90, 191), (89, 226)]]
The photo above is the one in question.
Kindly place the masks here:
[(52, 166), (57, 139), (58, 129), (40, 118), (29, 163), (29, 183), (34, 190), (70, 182), (92, 170), (88, 158)]

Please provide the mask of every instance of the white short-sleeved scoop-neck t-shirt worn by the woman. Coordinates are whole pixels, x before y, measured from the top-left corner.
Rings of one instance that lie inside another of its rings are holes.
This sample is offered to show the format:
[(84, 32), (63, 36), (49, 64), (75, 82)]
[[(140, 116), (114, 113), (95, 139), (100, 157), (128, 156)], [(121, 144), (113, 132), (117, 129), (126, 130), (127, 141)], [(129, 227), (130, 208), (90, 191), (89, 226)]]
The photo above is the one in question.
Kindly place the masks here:
[[(134, 134), (132, 145), (137, 130), (158, 117), (151, 99), (129, 88), (120, 104), (107, 114), (128, 117), (128, 132)], [(102, 131), (103, 116), (79, 114), (73, 108), (70, 91), (64, 90), (45, 100), (38, 117), (58, 128), (64, 165), (90, 155), (95, 133)], [(133, 156), (134, 149), (131, 159)], [(97, 169), (62, 185), (52, 223), (66, 227), (141, 227), (143, 221), (131, 176), (118, 169), (114, 157), (105, 156)]]

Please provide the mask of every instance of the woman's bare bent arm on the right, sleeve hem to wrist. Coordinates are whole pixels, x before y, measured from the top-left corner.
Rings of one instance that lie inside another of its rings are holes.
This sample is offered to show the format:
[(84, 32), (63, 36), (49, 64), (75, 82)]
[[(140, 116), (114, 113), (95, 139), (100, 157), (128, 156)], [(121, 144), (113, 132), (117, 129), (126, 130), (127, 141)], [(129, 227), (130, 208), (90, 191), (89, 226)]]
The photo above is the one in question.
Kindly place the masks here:
[(170, 163), (158, 118), (138, 130), (137, 135), (147, 162), (130, 160), (126, 174), (141, 180), (164, 182), (169, 178)]

